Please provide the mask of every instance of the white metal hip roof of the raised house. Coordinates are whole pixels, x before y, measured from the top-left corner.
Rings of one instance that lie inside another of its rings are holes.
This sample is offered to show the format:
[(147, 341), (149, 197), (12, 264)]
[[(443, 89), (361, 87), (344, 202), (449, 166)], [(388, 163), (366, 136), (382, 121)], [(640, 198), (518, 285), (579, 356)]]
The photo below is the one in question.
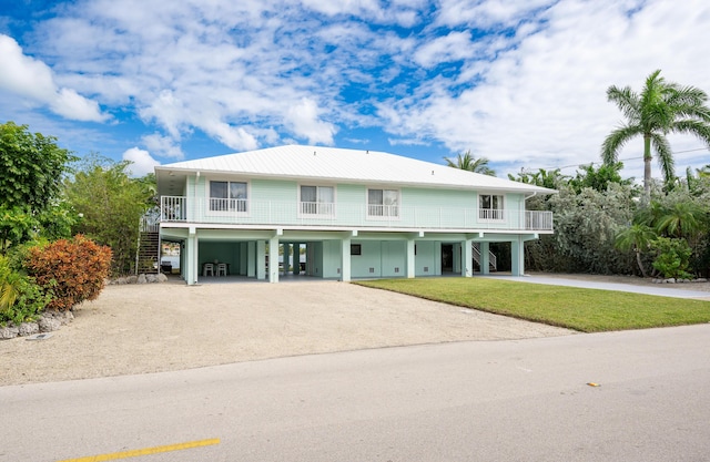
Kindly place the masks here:
[[(550, 194), (535, 185), (452, 168), (377, 151), (285, 145), (257, 151), (176, 162), (155, 167), (161, 178), (192, 172), (239, 173), (250, 177), (313, 179), (457, 189)], [(161, 188), (162, 189), (162, 188)]]

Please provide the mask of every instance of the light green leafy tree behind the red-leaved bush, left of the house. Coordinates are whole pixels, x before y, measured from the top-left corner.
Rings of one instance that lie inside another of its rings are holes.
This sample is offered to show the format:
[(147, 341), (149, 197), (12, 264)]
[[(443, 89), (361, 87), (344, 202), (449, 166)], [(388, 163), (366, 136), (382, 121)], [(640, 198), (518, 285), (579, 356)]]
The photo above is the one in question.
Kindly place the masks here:
[(65, 184), (69, 202), (82, 214), (73, 232), (111, 247), (114, 275), (130, 273), (135, 264), (139, 223), (155, 189), (154, 176), (131, 178), (129, 165), (91, 154)]

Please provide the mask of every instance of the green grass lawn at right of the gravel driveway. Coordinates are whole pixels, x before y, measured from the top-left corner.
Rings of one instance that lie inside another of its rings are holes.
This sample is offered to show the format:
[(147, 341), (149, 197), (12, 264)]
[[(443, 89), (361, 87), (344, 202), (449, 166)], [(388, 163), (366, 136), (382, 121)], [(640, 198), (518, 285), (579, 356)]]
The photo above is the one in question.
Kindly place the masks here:
[(355, 284), (582, 332), (710, 322), (710, 301), (682, 298), (477, 278)]

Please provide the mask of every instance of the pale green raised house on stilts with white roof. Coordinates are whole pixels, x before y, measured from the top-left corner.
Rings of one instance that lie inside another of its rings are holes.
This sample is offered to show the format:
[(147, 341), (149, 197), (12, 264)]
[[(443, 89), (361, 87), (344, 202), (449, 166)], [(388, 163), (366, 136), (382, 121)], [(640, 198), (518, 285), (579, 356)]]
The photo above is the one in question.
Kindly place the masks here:
[[(491, 243), (552, 233), (550, 212), (526, 199), (551, 189), (383, 152), (287, 145), (155, 167), (160, 237), (180, 243), (190, 285), (226, 264), (231, 275), (277, 283), (316, 278), (486, 274)], [(297, 254), (298, 258), (293, 258)], [(305, 265), (268, 265), (300, 261)], [(224, 271), (224, 269), (222, 269)]]

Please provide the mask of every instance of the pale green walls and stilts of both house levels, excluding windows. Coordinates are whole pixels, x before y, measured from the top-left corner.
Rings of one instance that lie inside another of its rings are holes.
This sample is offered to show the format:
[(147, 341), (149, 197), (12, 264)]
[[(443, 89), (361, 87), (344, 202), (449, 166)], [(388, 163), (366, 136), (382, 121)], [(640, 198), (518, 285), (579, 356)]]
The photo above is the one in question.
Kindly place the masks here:
[[(210, 182), (247, 183), (245, 209), (211, 211)], [(332, 186), (335, 206), (328, 216), (302, 214), (301, 186)], [(399, 192), (395, 216), (368, 216), (368, 188)], [(537, 238), (526, 230), (523, 193), (477, 193), (470, 189), (395, 187), (323, 181), (247, 178), (236, 175), (187, 176), (181, 207), (187, 225), (164, 229), (163, 235), (185, 244), (185, 280), (197, 284), (202, 265), (219, 260), (231, 275), (278, 279), (278, 258), (268, 247), (306, 245), (306, 274), (323, 279), (424, 277), (443, 274), (443, 247), (452, 253), (449, 271), (473, 275), (470, 244), (510, 243), (513, 274), (524, 273), (523, 248)], [(501, 219), (481, 219), (480, 194), (504, 196)], [(182, 213), (182, 211), (181, 211)], [(351, 244), (361, 255), (351, 255)], [(347, 260), (349, 259), (349, 265)], [(470, 258), (468, 258), (470, 260)], [(484, 258), (486, 264), (487, 257)], [(485, 265), (484, 273), (488, 267)], [(285, 276), (285, 274), (284, 274)]]

